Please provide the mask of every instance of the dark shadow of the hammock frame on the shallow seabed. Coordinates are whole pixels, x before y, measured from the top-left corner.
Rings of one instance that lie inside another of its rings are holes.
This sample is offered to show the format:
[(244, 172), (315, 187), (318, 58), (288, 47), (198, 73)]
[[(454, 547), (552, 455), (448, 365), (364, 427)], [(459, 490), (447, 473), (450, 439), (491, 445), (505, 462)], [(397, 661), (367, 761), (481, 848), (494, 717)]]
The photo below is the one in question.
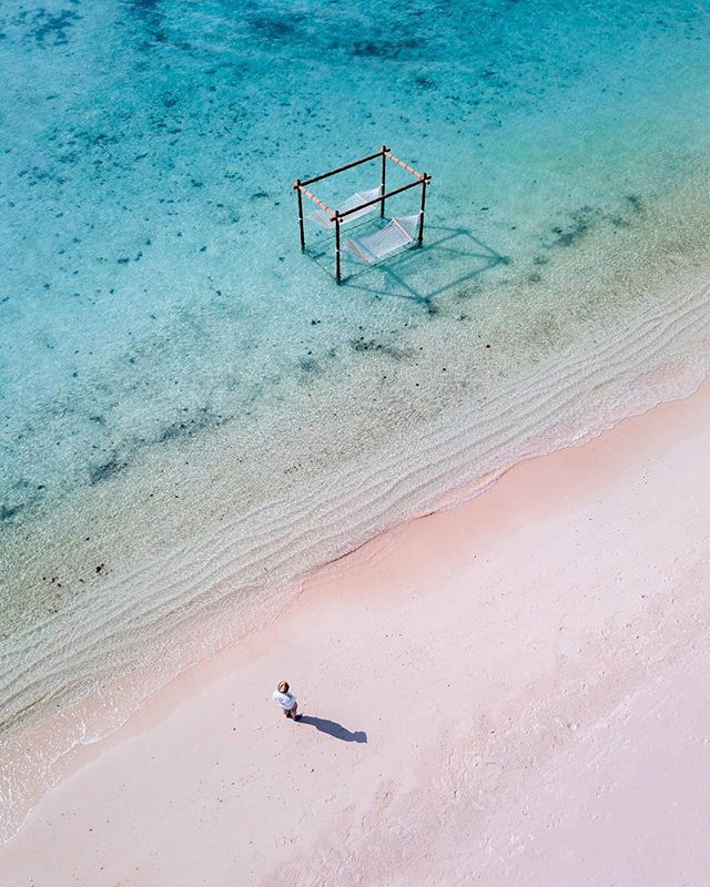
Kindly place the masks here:
[[(332, 275), (329, 251), (307, 249), (317, 265)], [(444, 293), (464, 286), (484, 272), (509, 265), (467, 228), (429, 224), (424, 247), (409, 248), (377, 265), (349, 263), (342, 287), (376, 298), (404, 298), (430, 306)]]

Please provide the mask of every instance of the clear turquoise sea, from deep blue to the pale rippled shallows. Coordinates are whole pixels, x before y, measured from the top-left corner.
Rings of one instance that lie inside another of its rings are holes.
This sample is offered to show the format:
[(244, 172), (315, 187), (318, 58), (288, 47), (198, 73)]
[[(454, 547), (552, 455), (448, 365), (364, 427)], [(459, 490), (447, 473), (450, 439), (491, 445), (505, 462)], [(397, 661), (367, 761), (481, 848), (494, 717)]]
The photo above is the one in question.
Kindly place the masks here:
[[(2, 837), (307, 571), (708, 374), (707, 0), (6, 0), (0, 78)], [(425, 246), (338, 287), (291, 185), (383, 143)]]

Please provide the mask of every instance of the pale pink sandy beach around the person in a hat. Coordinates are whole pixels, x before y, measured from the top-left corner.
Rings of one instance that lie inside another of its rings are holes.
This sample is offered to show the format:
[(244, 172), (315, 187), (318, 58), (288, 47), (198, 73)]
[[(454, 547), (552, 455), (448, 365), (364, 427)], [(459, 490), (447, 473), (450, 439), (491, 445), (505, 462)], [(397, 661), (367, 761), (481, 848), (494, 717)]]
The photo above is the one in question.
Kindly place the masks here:
[(706, 385), (322, 570), (85, 750), (0, 881), (707, 884), (709, 452)]

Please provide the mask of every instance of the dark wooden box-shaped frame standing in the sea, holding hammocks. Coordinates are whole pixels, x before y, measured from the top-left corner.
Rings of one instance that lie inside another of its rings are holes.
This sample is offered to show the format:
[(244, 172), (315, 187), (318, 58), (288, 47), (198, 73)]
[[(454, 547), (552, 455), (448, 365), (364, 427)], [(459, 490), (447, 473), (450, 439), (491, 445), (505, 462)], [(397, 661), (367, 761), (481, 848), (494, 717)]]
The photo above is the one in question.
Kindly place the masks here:
[[(312, 185), (315, 182), (321, 182), (323, 179), (329, 179), (332, 175), (337, 175), (338, 173), (344, 173), (346, 170), (352, 170), (353, 166), (359, 166), (362, 163), (369, 163), (373, 160), (377, 160), (377, 157), (382, 159), (382, 194), (379, 197), (375, 197), (371, 201), (364, 201), (355, 206), (351, 206), (349, 208), (345, 210), (344, 212), (339, 212), (338, 210), (332, 210), (329, 206), (326, 206), (323, 201), (318, 200), (318, 197), (313, 194), (313, 192), (308, 191), (307, 185)], [(396, 163), (398, 166), (402, 166), (403, 170), (406, 170), (415, 177), (415, 182), (409, 182), (408, 185), (402, 185), (400, 187), (396, 187), (393, 191), (385, 191), (386, 185), (386, 172), (387, 172), (387, 161), (392, 161)], [(424, 206), (426, 203), (426, 186), (430, 183), (432, 176), (427, 173), (419, 173), (416, 170), (412, 169), (408, 163), (405, 163), (399, 157), (395, 157), (392, 151), (387, 147), (387, 145), (383, 145), (379, 151), (375, 154), (369, 154), (367, 157), (362, 157), (361, 160), (354, 160), (352, 163), (346, 163), (344, 166), (338, 166), (336, 170), (331, 170), (327, 173), (321, 173), (321, 175), (314, 175), (312, 179), (306, 179), (305, 181), (301, 181), (301, 179), (296, 179), (293, 184), (293, 190), (298, 194), (298, 228), (301, 232), (301, 251), (305, 251), (306, 248), (306, 235), (305, 228), (303, 225), (303, 197), (306, 196), (312, 200), (317, 206), (320, 206), (323, 212), (327, 213), (328, 218), (335, 225), (335, 279), (341, 283), (341, 224), (343, 220), (347, 216), (353, 215), (354, 213), (358, 213), (362, 210), (365, 210), (369, 206), (374, 206), (375, 204), (379, 204), (379, 215), (381, 217), (385, 214), (385, 201), (389, 197), (394, 197), (395, 194), (402, 194), (403, 191), (409, 191), (413, 187), (420, 187), (422, 188), (422, 205), (419, 208), (419, 230), (417, 233), (417, 246), (422, 246), (424, 243)]]

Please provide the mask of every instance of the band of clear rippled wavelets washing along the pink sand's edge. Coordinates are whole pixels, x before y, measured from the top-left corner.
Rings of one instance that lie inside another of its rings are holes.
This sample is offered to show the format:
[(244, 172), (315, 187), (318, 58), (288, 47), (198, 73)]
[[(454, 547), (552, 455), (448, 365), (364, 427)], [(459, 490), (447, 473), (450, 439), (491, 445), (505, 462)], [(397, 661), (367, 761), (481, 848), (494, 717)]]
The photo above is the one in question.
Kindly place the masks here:
[[(623, 335), (608, 333), (592, 354), (557, 355), (485, 406), (420, 426), (416, 441), (390, 440), (315, 487), (134, 567), (67, 613), (63, 629), (54, 618), (20, 632), (18, 648), (0, 659), (0, 693), (18, 721), (17, 732), (6, 722), (3, 837), (69, 766), (72, 747), (111, 732), (189, 664), (275, 615), (297, 593), (298, 575), (402, 520), (477, 495), (520, 459), (690, 394), (710, 369), (709, 306), (710, 286), (688, 285), (672, 305), (641, 312)], [(49, 631), (63, 642), (48, 645)], [(48, 717), (52, 702), (61, 712)], [(33, 707), (39, 723), (28, 718)]]

